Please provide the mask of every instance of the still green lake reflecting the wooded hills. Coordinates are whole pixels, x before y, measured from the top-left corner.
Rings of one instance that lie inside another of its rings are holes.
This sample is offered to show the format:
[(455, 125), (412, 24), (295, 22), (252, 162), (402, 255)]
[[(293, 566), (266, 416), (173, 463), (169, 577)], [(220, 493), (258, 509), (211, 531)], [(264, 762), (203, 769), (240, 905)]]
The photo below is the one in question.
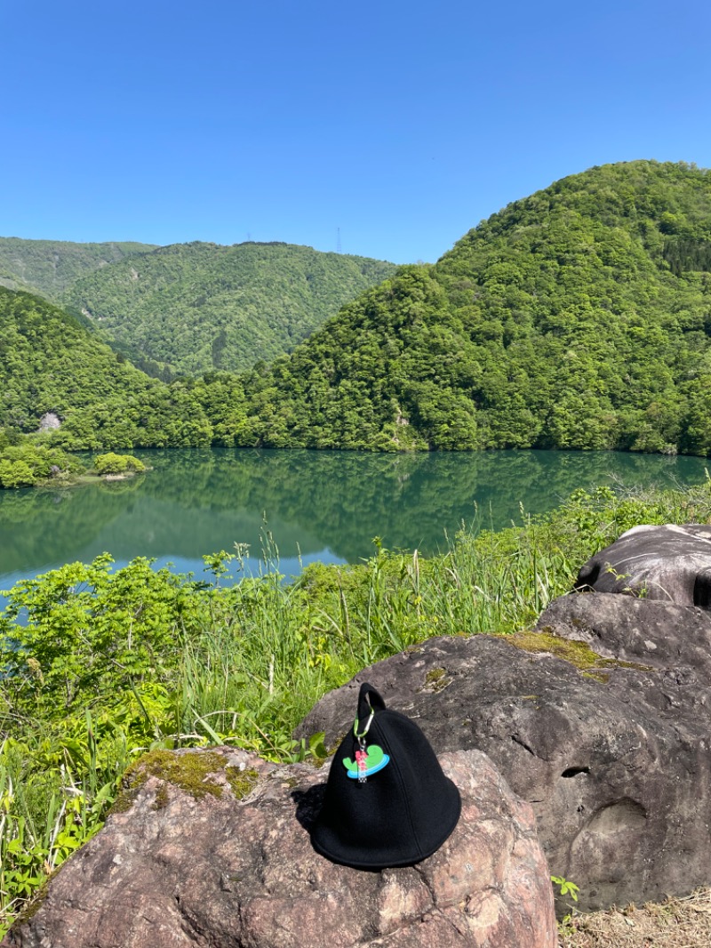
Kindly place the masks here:
[[(0, 491), (0, 590), (106, 551), (118, 565), (152, 556), (203, 575), (202, 556), (246, 543), (260, 570), (264, 530), (280, 569), (356, 562), (390, 549), (423, 555), (463, 523), (499, 529), (549, 510), (577, 487), (699, 483), (705, 458), (611, 452), (179, 449), (136, 452), (153, 468), (130, 481)], [(0, 602), (2, 605), (2, 602)]]

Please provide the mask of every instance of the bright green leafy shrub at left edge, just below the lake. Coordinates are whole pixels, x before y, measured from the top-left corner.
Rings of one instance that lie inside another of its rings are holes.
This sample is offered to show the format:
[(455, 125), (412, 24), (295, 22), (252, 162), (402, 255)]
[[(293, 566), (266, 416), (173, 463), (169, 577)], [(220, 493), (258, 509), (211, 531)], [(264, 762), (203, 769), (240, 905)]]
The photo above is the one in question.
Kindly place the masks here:
[(67, 564), (14, 587), (0, 628), (21, 613), (27, 622), (0, 642), (5, 701), (18, 716), (46, 721), (100, 702), (129, 731), (153, 737), (147, 708), (170, 680), (198, 602), (190, 583), (155, 572), (150, 560), (116, 574), (111, 562)]

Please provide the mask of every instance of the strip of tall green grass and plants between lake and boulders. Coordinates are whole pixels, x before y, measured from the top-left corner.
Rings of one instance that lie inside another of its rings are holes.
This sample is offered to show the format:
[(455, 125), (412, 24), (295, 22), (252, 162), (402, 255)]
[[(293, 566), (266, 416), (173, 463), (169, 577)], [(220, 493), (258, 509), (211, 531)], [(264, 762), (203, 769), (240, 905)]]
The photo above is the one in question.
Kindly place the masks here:
[[(279, 574), (269, 538), (263, 574), (228, 588), (222, 577), (230, 564), (240, 567), (240, 549), (206, 557), (215, 576), (209, 588), (160, 573), (147, 578), (145, 563), (108, 576), (95, 570), (95, 594), (110, 604), (97, 605), (97, 621), (125, 612), (128, 638), (117, 644), (121, 628), (112, 627), (96, 639), (103, 650), (91, 664), (105, 681), (94, 674), (82, 691), (77, 679), (76, 701), (59, 717), (43, 694), (49, 669), (35, 657), (45, 652), (32, 651), (36, 635), (0, 615), (6, 657), (15, 654), (9, 641), (26, 646), (13, 658), (16, 674), (0, 679), (0, 932), (100, 828), (120, 775), (142, 751), (237, 743), (275, 760), (302, 758), (309, 747), (291, 737), (296, 724), (364, 666), (433, 635), (529, 626), (571, 588), (589, 556), (635, 523), (710, 519), (707, 484), (638, 496), (606, 488), (578, 492), (543, 519), (522, 515), (499, 533), (463, 531), (440, 556), (393, 553), (376, 541), (367, 562), (314, 564), (293, 583)], [(56, 602), (53, 582), (62, 590)], [(86, 591), (78, 611), (72, 590), (47, 574), (10, 599), (28, 602), (31, 615), (35, 597), (43, 628), (65, 632), (67, 615), (93, 621)], [(130, 608), (121, 611), (123, 599)], [(140, 632), (146, 615), (151, 623)]]

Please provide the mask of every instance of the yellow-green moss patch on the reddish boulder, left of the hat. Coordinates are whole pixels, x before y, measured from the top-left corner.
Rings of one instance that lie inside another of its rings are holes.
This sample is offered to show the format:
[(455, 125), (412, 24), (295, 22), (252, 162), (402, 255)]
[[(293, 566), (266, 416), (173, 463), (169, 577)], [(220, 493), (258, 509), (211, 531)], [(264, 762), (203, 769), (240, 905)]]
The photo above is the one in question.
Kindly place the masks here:
[[(225, 757), (215, 751), (199, 751), (192, 754), (174, 754), (173, 751), (149, 751), (139, 757), (123, 775), (121, 789), (112, 813), (121, 813), (130, 809), (138, 791), (150, 776), (159, 777), (172, 783), (195, 800), (208, 796), (222, 796), (223, 787), (210, 779), (210, 775), (221, 771), (225, 766)], [(160, 788), (155, 795), (154, 809), (161, 810), (168, 804), (168, 792)]]

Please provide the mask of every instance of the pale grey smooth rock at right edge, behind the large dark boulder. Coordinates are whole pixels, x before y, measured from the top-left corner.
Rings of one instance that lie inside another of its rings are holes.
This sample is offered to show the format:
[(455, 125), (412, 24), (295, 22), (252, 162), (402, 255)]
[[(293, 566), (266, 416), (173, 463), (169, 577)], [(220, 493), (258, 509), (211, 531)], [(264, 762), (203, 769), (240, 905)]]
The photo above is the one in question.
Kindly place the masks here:
[(576, 589), (644, 594), (647, 599), (711, 608), (711, 526), (632, 527), (589, 559)]

